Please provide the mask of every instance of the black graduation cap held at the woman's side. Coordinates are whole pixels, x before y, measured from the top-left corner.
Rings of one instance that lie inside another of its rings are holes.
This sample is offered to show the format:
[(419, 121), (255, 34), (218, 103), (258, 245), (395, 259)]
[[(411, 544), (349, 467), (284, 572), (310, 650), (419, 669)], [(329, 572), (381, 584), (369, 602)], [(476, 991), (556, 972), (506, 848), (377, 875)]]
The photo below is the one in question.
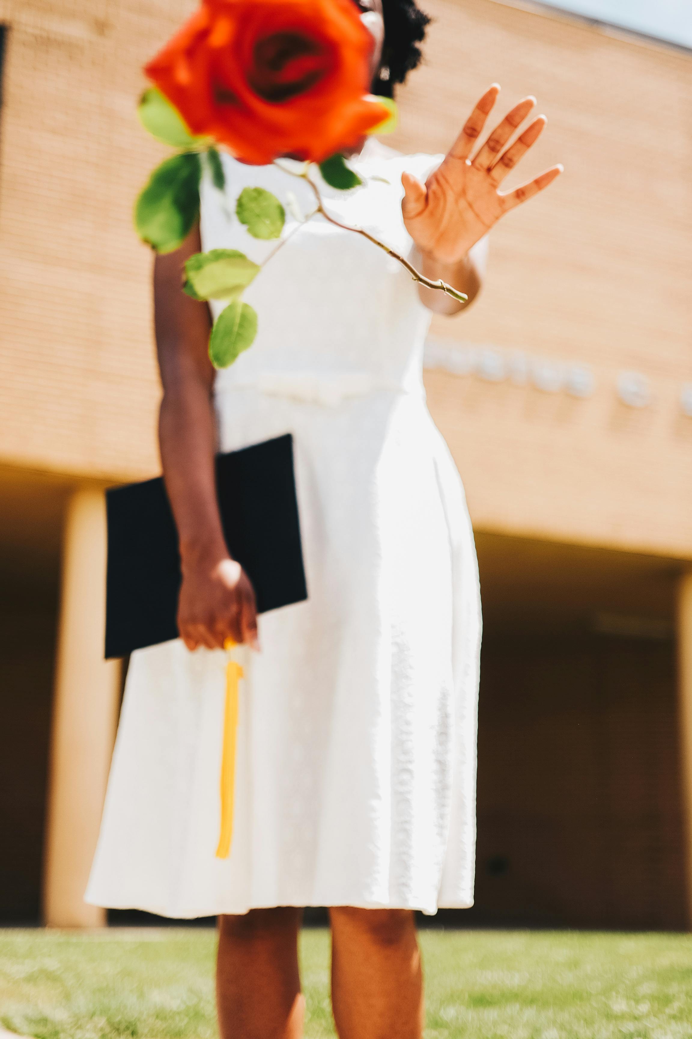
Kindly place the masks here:
[[(217, 455), (223, 532), (250, 578), (257, 612), (307, 598), (293, 436)], [(178, 636), (177, 531), (163, 478), (106, 491), (106, 658)]]

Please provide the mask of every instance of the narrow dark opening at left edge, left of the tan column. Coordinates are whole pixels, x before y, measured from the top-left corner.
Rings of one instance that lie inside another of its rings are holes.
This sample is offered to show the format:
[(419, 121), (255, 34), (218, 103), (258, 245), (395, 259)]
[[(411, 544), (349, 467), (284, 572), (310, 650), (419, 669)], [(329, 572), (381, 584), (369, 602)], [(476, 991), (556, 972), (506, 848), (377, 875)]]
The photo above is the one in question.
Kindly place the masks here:
[(64, 489), (0, 473), (0, 923), (40, 920)]

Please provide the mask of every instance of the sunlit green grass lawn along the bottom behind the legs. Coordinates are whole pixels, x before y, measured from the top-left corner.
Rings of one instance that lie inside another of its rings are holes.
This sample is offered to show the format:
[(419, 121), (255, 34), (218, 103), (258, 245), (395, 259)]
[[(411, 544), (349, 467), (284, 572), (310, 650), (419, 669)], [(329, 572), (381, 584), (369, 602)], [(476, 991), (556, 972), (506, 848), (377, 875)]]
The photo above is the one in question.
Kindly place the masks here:
[[(423, 931), (427, 1039), (692, 1037), (692, 937)], [(329, 936), (302, 936), (308, 1039), (333, 1036)], [(0, 1024), (36, 1039), (206, 1039), (211, 930), (0, 931)], [(394, 1039), (394, 1037), (392, 1037)]]

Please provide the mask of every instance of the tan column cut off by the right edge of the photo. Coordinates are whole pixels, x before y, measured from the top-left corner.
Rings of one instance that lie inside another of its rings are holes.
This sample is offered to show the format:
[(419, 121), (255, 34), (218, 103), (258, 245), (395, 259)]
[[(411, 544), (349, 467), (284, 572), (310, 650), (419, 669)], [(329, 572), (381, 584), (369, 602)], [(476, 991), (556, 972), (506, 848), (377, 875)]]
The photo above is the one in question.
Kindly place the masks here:
[(687, 870), (687, 923), (692, 929), (692, 569), (677, 594), (677, 688), (682, 747), (682, 803)]

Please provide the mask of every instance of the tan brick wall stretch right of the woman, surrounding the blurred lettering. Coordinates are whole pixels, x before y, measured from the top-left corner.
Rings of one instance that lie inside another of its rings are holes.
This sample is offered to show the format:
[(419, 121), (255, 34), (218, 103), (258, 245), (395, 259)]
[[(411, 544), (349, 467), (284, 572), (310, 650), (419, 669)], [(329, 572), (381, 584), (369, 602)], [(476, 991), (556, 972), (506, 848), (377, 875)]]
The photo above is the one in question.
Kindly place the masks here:
[[(426, 6), (436, 24), (398, 146), (444, 150), (498, 80), (505, 109), (532, 92), (549, 117), (524, 172), (566, 167), (497, 228), (482, 297), (435, 332), (586, 363), (597, 379), (574, 400), (431, 373), (474, 524), (689, 558), (692, 55), (493, 0)], [(619, 369), (648, 376), (652, 406), (619, 403)]]

